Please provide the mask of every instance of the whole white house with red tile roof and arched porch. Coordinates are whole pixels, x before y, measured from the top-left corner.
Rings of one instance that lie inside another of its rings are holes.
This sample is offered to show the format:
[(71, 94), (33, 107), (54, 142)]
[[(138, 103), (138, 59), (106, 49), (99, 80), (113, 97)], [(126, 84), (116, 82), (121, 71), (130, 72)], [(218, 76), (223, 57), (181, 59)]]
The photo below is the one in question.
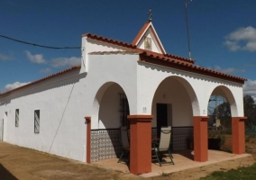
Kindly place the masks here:
[(207, 160), (207, 106), (231, 104), (233, 153), (244, 148), (246, 79), (166, 53), (151, 22), (133, 42), (82, 36), (81, 66), (0, 94), (0, 140), (85, 162), (120, 155), (130, 125), (131, 173), (151, 172), (151, 137), (172, 126), (173, 149), (194, 135), (196, 161)]

